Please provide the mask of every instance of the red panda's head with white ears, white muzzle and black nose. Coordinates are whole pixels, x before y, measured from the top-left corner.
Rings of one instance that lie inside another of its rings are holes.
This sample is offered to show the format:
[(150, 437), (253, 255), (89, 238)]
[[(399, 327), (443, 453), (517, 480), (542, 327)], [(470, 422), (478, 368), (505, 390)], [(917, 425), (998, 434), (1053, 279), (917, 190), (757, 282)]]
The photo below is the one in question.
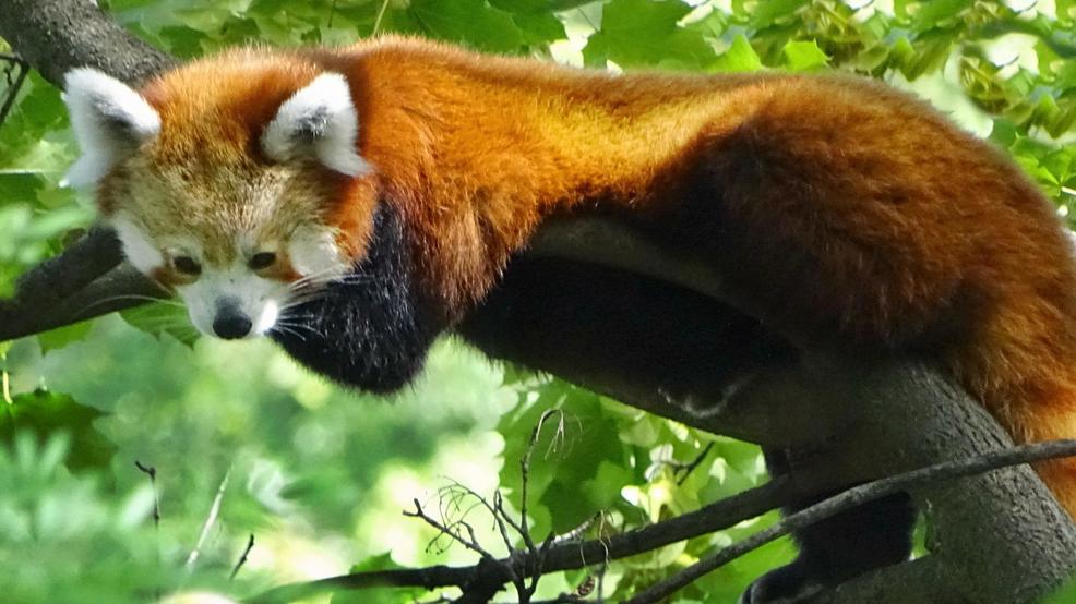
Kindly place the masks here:
[(342, 232), (361, 228), (332, 217), (370, 172), (339, 73), (244, 50), (141, 92), (76, 69), (65, 101), (82, 148), (67, 182), (96, 186), (128, 259), (175, 290), (205, 334), (270, 331), (363, 244), (364, 232)]

